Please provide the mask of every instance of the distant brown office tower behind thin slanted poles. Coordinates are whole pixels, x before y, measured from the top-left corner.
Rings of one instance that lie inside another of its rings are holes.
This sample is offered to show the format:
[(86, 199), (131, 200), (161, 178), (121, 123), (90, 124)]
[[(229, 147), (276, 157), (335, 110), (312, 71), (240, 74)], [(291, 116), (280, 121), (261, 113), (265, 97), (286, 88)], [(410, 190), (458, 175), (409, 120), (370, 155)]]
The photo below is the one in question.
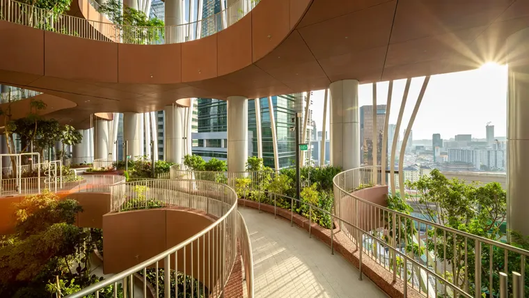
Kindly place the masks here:
[[(386, 104), (377, 104), (377, 164), (382, 157), (382, 133), (386, 121)], [(363, 164), (373, 164), (373, 106), (360, 107), (360, 146)]]

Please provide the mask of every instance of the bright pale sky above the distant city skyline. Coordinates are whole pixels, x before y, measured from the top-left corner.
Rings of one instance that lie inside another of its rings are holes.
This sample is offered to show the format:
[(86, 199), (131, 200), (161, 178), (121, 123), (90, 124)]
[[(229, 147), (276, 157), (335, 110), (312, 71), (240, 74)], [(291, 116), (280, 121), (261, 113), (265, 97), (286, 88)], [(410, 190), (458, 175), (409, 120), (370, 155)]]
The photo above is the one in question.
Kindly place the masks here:
[[(417, 102), (424, 77), (411, 80), (401, 129), (408, 125)], [(393, 97), (389, 123), (396, 124), (406, 80), (393, 82)], [(377, 84), (377, 104), (386, 104), (388, 81)], [(313, 120), (317, 130), (322, 130), (324, 90), (313, 91)], [(359, 107), (372, 105), (372, 84), (358, 87)], [(329, 113), (329, 108), (327, 109)], [(477, 70), (434, 75), (430, 78), (423, 102), (413, 123), (413, 139), (432, 139), (441, 134), (442, 139), (456, 134), (472, 134), (485, 138), (485, 125), (494, 125), (495, 136), (507, 135), (507, 66), (486, 64)], [(329, 114), (327, 114), (329, 131)]]

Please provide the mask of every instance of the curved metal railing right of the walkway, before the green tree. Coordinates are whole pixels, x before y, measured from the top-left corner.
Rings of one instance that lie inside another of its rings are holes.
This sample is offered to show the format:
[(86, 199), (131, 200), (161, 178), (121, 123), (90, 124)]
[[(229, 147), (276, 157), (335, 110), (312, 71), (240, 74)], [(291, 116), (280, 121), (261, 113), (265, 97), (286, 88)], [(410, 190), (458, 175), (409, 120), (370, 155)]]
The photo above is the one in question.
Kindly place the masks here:
[[(340, 219), (340, 229), (356, 246), (361, 246), (366, 256), (391, 272), (393, 281), (400, 279), (404, 283), (404, 292), (411, 288), (425, 297), (482, 297), (482, 293), (493, 292), (499, 297), (498, 289), (507, 291), (507, 276), (514, 276), (515, 283), (523, 284), (529, 251), (396, 212), (355, 196), (355, 190), (373, 185), (374, 175), (379, 175), (379, 171), (354, 168), (335, 176), (333, 217)], [(405, 249), (410, 246), (415, 249)], [(421, 251), (424, 253), (418, 253)], [(503, 264), (493, 264), (493, 254), (504, 256)], [(452, 274), (453, 264), (464, 269)], [(509, 264), (515, 264), (521, 272), (512, 273)], [(520, 286), (510, 294), (526, 297), (527, 293)]]

